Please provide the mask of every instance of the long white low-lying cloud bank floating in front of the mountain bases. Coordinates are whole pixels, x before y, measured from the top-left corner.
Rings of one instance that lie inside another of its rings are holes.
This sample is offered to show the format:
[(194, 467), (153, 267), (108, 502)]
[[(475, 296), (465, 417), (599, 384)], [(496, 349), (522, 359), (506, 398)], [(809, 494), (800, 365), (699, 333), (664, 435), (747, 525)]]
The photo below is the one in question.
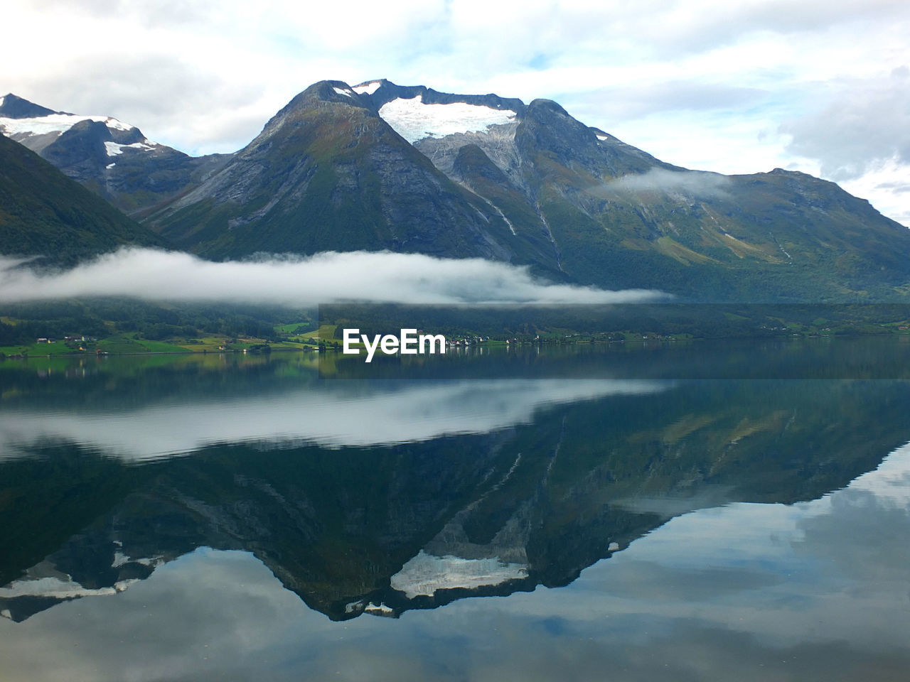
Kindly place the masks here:
[(657, 300), (660, 291), (550, 284), (527, 266), (389, 252), (271, 256), (213, 263), (180, 252), (124, 248), (70, 270), (40, 272), (0, 256), (0, 302), (86, 296), (152, 301), (311, 305), (342, 301), (604, 304)]

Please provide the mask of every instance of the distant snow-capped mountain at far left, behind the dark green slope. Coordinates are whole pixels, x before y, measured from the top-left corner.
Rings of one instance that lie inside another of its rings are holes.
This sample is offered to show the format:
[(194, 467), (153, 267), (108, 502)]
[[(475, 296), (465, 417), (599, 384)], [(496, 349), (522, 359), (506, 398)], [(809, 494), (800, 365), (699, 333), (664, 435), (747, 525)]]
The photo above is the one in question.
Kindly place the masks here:
[(126, 213), (196, 186), (228, 157), (189, 156), (113, 116), (52, 111), (12, 94), (0, 97), (0, 133)]

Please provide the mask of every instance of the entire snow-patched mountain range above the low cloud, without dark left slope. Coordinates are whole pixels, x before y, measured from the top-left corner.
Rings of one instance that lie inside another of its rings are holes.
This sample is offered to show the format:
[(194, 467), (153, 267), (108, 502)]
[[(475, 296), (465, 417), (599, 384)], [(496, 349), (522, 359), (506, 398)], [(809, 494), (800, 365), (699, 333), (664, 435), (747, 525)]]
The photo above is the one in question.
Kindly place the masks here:
[(834, 183), (670, 165), (555, 102), (311, 85), (233, 155), (0, 100), (0, 131), (173, 247), (483, 257), (694, 300), (903, 300), (910, 230)]

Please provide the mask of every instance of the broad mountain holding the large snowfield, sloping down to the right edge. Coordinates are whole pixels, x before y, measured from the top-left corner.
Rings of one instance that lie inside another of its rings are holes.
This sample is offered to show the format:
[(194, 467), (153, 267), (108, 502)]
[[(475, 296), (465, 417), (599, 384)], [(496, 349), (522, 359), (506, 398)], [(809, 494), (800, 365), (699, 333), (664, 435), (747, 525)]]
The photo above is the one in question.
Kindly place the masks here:
[[(686, 170), (581, 124), (549, 100), (524, 106), (388, 81), (355, 90), (516, 226), (525, 224), (519, 207), (530, 207), (575, 281), (751, 300), (765, 291), (824, 298), (908, 282), (910, 231), (833, 183), (781, 169)], [(514, 115), (505, 125), (462, 125), (464, 105)]]

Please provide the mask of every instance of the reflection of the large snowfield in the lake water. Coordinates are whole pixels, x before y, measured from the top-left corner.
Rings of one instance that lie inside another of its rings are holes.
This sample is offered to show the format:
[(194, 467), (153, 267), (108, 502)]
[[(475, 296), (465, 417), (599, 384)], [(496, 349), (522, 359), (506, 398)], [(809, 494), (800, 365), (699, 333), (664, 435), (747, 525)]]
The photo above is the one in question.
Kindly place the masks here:
[(422, 549), (391, 577), (391, 587), (404, 592), (409, 599), (421, 595), (432, 597), (437, 590), (474, 589), (501, 585), (510, 580), (528, 577), (528, 567), (523, 564), (506, 564), (500, 557), (465, 559), (462, 557), (434, 557)]

